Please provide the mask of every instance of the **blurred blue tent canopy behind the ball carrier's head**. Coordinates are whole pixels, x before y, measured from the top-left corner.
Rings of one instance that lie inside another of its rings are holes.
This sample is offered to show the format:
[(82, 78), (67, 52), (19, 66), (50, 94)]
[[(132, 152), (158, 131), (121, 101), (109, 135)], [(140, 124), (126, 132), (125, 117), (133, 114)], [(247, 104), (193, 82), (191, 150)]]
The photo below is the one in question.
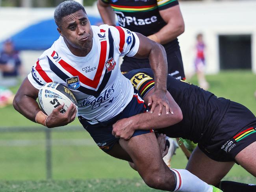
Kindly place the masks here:
[[(102, 23), (99, 17), (89, 17), (91, 25)], [(37, 24), (28, 26), (24, 30), (9, 37), (15, 46), (15, 50), (46, 50), (59, 38), (54, 19), (43, 20)], [(4, 41), (3, 41), (4, 42)], [(0, 43), (3, 44), (3, 42)]]

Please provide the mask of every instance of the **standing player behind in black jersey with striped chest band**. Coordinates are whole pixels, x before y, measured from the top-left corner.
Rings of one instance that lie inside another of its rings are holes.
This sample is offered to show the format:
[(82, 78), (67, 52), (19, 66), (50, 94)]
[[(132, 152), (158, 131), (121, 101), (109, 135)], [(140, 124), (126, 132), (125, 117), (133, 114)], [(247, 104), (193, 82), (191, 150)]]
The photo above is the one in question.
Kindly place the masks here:
[[(184, 20), (177, 0), (110, 1), (98, 0), (98, 10), (105, 24), (119, 25), (162, 44), (167, 54), (168, 74), (185, 79), (177, 37), (184, 32)], [(115, 11), (115, 12), (114, 12)], [(148, 59), (124, 56), (122, 72), (150, 68)]]

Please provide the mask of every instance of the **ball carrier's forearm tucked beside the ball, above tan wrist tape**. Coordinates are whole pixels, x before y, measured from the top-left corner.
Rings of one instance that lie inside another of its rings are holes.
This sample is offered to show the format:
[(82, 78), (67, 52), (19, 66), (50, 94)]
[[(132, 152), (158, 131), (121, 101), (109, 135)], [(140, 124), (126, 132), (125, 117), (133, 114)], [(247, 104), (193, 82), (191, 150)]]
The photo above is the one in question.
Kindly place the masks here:
[(31, 98), (30, 96), (23, 95), (19, 96), (16, 95), (13, 100), (13, 107), (23, 116), (35, 122), (35, 116), (38, 111), (41, 109), (39, 108), (38, 103), (35, 99)]

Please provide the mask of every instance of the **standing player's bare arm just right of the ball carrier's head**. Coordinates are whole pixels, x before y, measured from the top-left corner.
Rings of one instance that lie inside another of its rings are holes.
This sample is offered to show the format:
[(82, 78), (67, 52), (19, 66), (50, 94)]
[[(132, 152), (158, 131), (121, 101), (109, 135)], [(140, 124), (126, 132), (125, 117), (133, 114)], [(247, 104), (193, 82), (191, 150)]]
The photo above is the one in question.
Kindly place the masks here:
[(104, 24), (115, 26), (115, 12), (110, 6), (102, 6), (102, 4), (100, 0), (97, 2), (98, 11)]

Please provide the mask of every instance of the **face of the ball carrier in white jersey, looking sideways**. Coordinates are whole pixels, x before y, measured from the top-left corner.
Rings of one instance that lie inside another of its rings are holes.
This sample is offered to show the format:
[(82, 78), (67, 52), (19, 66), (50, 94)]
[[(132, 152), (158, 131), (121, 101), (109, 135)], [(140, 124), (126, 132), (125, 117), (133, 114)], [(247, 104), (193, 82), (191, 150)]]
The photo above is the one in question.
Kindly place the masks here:
[[(93, 30), (87, 15), (83, 10), (76, 11), (62, 18), (59, 33), (69, 47), (70, 51), (77, 56), (85, 56), (93, 44)], [(81, 55), (82, 54), (82, 55)]]

